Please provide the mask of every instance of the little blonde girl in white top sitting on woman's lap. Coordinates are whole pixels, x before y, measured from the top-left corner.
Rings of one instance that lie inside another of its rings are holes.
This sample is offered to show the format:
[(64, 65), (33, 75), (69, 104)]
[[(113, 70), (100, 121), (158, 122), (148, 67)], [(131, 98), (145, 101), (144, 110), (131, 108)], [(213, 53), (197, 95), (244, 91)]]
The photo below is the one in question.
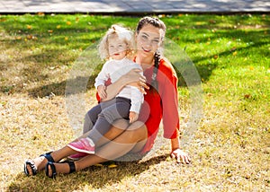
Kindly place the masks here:
[[(142, 70), (140, 65), (128, 58), (132, 42), (131, 31), (118, 25), (112, 25), (101, 40), (99, 54), (102, 59), (108, 59), (94, 83), (101, 100), (106, 98), (104, 83), (109, 79), (114, 83), (121, 75), (127, 74), (133, 68)], [(130, 123), (132, 123), (138, 119), (143, 100), (143, 94), (138, 87), (125, 86), (114, 99), (100, 102), (88, 111), (85, 121), (89, 122), (85, 125), (90, 125), (90, 127), (84, 127), (84, 129), (91, 129), (91, 131), (86, 138), (81, 138), (67, 146), (79, 153), (94, 153), (96, 142), (109, 131), (113, 121), (126, 118), (130, 119)]]

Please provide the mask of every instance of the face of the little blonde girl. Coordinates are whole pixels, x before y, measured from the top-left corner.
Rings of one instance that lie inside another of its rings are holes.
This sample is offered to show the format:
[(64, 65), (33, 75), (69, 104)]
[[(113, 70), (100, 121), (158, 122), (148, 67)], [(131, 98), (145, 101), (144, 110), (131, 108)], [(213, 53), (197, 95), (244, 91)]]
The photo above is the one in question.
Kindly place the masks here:
[(123, 39), (113, 37), (108, 39), (109, 42), (109, 55), (113, 59), (121, 60), (127, 55), (127, 44)]

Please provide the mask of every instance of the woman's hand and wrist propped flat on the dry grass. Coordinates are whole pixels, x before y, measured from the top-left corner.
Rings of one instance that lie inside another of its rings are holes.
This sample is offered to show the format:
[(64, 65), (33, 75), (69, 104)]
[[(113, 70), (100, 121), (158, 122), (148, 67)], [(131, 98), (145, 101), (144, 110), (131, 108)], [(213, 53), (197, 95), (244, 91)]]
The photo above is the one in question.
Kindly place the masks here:
[(171, 139), (171, 146), (172, 146), (172, 152), (171, 157), (175, 158), (178, 163), (181, 161), (183, 163), (189, 164), (191, 161), (191, 158), (188, 156), (187, 153), (184, 153), (183, 150), (180, 148), (180, 140), (178, 137), (175, 139)]

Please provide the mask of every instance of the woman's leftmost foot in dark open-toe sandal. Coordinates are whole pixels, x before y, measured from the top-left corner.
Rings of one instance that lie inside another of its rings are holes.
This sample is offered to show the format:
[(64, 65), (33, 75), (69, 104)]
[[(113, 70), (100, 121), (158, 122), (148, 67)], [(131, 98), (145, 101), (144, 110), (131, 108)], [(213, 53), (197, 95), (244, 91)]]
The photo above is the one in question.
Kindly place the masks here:
[[(51, 152), (50, 152), (51, 153)], [(27, 160), (24, 164), (24, 172), (27, 176), (37, 174), (40, 170), (43, 170), (48, 161), (54, 161), (50, 153), (41, 154), (40, 157), (34, 160)]]

